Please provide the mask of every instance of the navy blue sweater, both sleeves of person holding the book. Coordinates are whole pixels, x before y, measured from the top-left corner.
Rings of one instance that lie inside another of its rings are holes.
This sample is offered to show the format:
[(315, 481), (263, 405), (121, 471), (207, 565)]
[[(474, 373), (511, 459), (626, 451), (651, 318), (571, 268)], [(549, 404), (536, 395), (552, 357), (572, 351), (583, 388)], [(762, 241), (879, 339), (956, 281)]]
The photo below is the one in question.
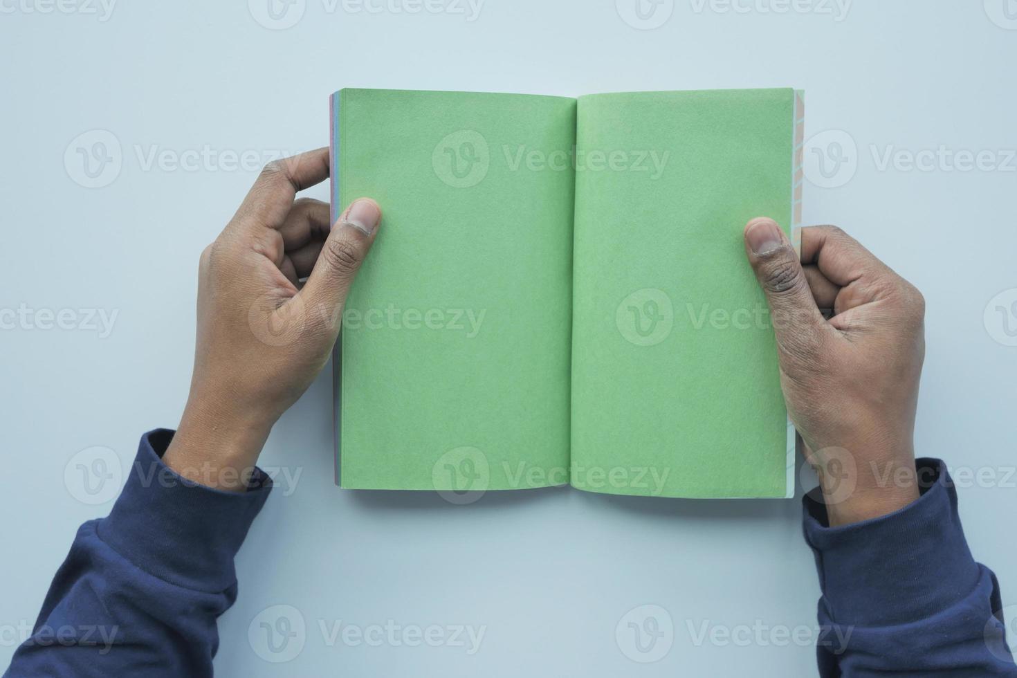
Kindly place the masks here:
[[(32, 637), (5, 676), (211, 676), (216, 619), (236, 600), (233, 559), (271, 490), (186, 481), (162, 464), (172, 431), (145, 434), (108, 517), (78, 530)], [(921, 497), (829, 528), (805, 498), (823, 597), (822, 676), (1014, 676), (996, 577), (972, 558), (943, 464), (919, 459)]]

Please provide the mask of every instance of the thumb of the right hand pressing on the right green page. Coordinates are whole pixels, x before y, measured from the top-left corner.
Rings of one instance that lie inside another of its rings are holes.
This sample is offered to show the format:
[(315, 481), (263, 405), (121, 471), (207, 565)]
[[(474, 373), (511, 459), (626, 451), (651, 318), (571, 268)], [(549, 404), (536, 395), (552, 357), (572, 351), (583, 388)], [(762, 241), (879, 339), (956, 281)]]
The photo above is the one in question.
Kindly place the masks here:
[(766, 294), (782, 352), (815, 348), (824, 322), (805, 271), (777, 223), (758, 217), (745, 226), (745, 253)]

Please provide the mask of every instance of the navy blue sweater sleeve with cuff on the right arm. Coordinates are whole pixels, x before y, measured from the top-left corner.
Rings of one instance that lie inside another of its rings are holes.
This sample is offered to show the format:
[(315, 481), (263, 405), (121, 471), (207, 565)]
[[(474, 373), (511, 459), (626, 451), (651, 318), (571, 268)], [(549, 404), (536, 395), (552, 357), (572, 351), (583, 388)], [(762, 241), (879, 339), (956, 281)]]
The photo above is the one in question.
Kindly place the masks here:
[(974, 561), (945, 465), (918, 459), (921, 496), (830, 528), (804, 498), (805, 541), (823, 597), (820, 675), (1014, 676), (996, 576)]

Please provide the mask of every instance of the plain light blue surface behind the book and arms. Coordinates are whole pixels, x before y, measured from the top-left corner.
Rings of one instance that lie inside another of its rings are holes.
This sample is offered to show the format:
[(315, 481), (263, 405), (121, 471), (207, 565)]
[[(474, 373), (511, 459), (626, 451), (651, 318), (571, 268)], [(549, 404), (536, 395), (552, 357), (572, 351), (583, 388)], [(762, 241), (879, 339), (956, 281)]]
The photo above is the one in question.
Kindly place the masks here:
[[(944, 145), (988, 149), (1005, 164), (1017, 146), (1017, 22), (1005, 19), (1006, 0), (858, 0), (842, 20), (820, 0), (799, 5), (817, 11), (788, 13), (761, 11), (780, 0), (741, 0), (744, 13), (675, 0), (655, 29), (626, 23), (612, 0), (486, 0), (473, 21), (298, 0), (292, 10), (303, 5), (304, 14), (285, 29), (255, 20), (266, 0), (252, 0), (253, 12), (237, 0), (120, 0), (105, 21), (68, 1), (70, 13), (44, 14), (26, 9), (45, 0), (0, 0), (0, 309), (118, 315), (102, 338), (80, 327), (0, 330), (0, 665), (18, 627), (35, 619), (77, 526), (111, 505), (79, 501), (65, 468), (93, 446), (126, 467), (140, 433), (176, 425), (198, 253), (256, 175), (145, 169), (144, 159), (154, 147), (179, 158), (207, 145), (252, 150), (260, 166), (271, 150), (324, 145), (327, 96), (343, 86), (572, 96), (804, 88), (809, 135), (842, 130), (857, 148), (836, 181), (846, 183), (806, 185), (804, 221), (842, 226), (925, 294), (917, 448), (994, 475), (960, 489), (960, 510), (973, 552), (1000, 576), (1004, 602), (1017, 604), (1017, 478), (1008, 477), (1017, 348), (994, 340), (1006, 336), (1002, 316), (983, 321), (990, 300), (1017, 288), (1017, 162), (1009, 172), (881, 170), (873, 152)], [(66, 167), (64, 155), (95, 129), (114, 135), (122, 168), (109, 185), (85, 188), (75, 182), (74, 147)], [(326, 199), (327, 189), (310, 193)], [(463, 507), (430, 494), (340, 491), (328, 373), (276, 427), (262, 463), (301, 476), (290, 496), (270, 499), (238, 557), (240, 598), (220, 621), (222, 675), (815, 672), (812, 646), (697, 644), (689, 626), (815, 623), (819, 589), (797, 501), (555, 489), (488, 494)], [(670, 651), (642, 665), (616, 644), (615, 626), (646, 604), (666, 609), (675, 631)], [(248, 641), (252, 620), (274, 605), (293, 606), (306, 622), (289, 663), (263, 661)], [(388, 619), (486, 632), (468, 656), (455, 646), (328, 646), (318, 627)]]

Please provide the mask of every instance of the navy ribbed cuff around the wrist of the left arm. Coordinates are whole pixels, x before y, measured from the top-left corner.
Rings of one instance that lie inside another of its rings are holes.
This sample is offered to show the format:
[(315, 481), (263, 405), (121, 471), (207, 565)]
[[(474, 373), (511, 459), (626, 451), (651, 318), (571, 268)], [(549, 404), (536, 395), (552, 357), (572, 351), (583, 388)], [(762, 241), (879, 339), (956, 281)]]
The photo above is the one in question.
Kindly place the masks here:
[(141, 436), (127, 482), (100, 538), (145, 572), (195, 591), (236, 582), (233, 558), (261, 510), (272, 479), (254, 469), (246, 492), (227, 492), (181, 477), (163, 464), (173, 431)]

